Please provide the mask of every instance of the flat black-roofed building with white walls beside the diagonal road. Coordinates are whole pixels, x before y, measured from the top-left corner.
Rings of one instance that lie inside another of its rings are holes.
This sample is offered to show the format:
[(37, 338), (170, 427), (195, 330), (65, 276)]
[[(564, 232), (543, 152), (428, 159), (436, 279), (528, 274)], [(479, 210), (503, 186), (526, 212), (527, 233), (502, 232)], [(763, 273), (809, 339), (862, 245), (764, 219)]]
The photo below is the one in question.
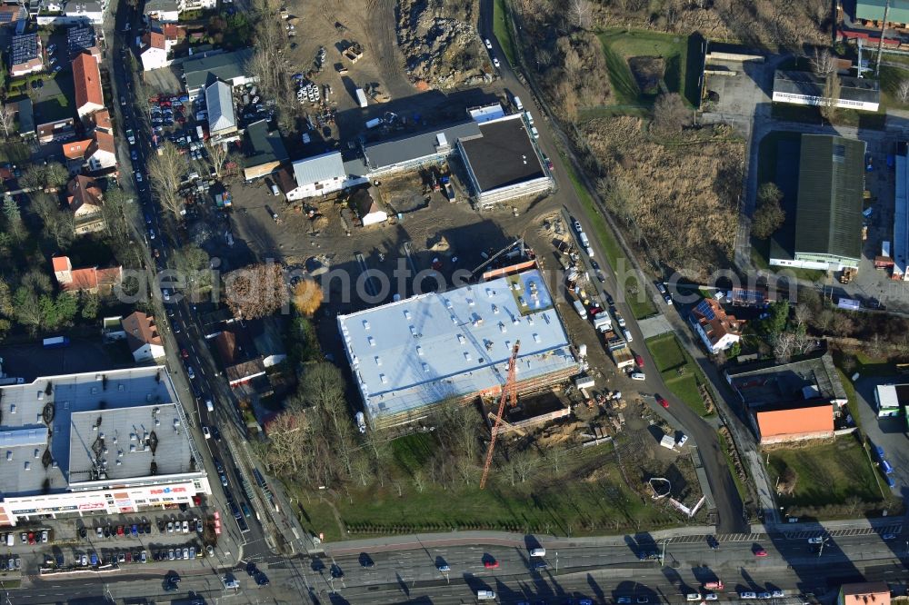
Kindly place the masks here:
[(546, 171), (524, 114), (503, 115), (478, 124), (482, 136), (457, 142), (480, 206), (548, 192)]

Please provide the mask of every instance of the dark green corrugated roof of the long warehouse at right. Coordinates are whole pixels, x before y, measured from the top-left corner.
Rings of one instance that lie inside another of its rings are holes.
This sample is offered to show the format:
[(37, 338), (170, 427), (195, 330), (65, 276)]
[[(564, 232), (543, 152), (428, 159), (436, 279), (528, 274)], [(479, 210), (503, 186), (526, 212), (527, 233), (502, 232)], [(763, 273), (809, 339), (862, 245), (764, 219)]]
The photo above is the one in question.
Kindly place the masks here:
[(864, 141), (803, 134), (795, 253), (862, 256)]

